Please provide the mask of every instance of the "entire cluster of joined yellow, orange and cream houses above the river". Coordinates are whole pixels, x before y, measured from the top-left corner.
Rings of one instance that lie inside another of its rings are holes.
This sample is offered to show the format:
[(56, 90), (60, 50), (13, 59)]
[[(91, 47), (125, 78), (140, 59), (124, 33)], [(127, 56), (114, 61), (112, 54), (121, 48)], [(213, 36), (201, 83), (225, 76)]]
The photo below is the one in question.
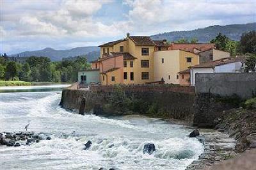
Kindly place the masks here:
[(199, 56), (184, 50), (168, 50), (166, 40), (130, 36), (104, 43), (100, 59), (92, 67), (100, 70), (103, 85), (143, 84), (163, 81), (179, 84), (179, 72), (199, 64)]

